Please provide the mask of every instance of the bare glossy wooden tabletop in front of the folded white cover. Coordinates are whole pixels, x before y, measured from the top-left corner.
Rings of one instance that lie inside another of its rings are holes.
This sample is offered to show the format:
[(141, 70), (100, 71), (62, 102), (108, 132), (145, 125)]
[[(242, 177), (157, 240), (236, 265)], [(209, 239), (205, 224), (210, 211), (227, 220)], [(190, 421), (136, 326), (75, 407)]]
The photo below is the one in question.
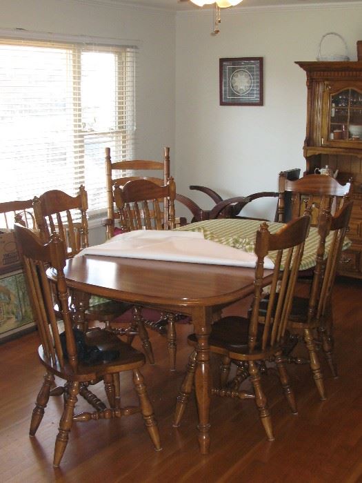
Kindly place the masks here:
[[(254, 269), (86, 255), (67, 260), (70, 287), (123, 302), (187, 307), (229, 304), (253, 291)], [(271, 270), (265, 270), (268, 279)], [(181, 310), (183, 308), (183, 310)]]

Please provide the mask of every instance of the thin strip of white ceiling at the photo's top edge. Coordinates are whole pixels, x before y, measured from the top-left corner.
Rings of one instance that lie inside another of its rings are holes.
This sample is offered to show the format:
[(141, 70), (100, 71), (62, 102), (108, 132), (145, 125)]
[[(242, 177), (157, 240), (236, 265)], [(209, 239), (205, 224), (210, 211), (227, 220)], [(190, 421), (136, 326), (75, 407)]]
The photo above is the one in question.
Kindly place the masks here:
[[(143, 6), (143, 7), (156, 7), (164, 8), (166, 10), (193, 10), (199, 9), (190, 1), (178, 1), (178, 0), (113, 0), (114, 3), (120, 3), (123, 5)], [(238, 7), (263, 7), (263, 6), (289, 6), (289, 5), (325, 5), (330, 3), (341, 3), (342, 0), (243, 0)], [(358, 2), (359, 3), (359, 2)], [(205, 6), (206, 7), (206, 6)], [(204, 8), (205, 8), (204, 7)], [(209, 6), (210, 7), (210, 6)]]

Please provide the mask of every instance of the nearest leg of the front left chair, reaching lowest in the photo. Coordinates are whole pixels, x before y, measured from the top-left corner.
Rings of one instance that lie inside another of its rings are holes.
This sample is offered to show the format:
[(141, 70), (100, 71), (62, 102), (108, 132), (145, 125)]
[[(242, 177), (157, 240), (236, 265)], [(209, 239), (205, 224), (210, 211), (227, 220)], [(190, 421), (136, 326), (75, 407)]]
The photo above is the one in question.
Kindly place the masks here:
[(59, 422), (59, 433), (55, 441), (53, 466), (59, 466), (61, 458), (68, 444), (70, 428), (72, 428), (74, 406), (77, 403), (77, 394), (79, 393), (79, 382), (72, 382), (69, 389), (69, 397), (66, 400), (63, 414)]

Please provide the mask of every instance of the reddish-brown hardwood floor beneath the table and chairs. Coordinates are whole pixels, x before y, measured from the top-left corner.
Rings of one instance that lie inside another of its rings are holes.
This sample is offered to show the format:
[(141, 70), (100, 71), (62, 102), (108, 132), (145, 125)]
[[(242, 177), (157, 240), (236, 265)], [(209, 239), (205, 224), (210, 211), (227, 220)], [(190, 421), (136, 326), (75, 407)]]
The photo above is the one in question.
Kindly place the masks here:
[[(192, 326), (179, 325), (177, 372), (168, 371), (165, 339), (152, 333), (157, 364), (145, 366), (163, 451), (153, 450), (141, 415), (74, 423), (61, 468), (52, 468), (61, 398), (51, 398), (37, 436), (28, 435), (41, 386), (37, 335), (0, 346), (1, 482), (362, 482), (362, 281), (341, 279), (334, 290), (335, 355), (339, 378), (323, 360), (328, 399), (321, 402), (309, 366), (288, 366), (299, 415), (290, 413), (276, 376), (265, 377), (274, 435), (268, 442), (253, 401), (212, 399), (211, 452), (202, 456), (194, 400), (180, 428), (172, 411), (190, 348)], [(216, 362), (216, 360), (215, 360)], [(123, 374), (123, 404), (137, 401)], [(97, 387), (103, 397), (103, 388)], [(79, 400), (77, 408), (83, 406)], [(86, 407), (86, 406), (85, 406)]]

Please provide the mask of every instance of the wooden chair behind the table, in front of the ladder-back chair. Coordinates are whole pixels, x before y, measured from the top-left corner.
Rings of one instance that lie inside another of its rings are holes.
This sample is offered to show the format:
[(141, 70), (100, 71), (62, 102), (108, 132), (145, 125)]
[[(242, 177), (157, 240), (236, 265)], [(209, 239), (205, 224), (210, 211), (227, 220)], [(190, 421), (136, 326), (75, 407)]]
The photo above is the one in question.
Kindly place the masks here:
[[(170, 177), (165, 186), (148, 179), (134, 179), (128, 181), (123, 187), (114, 186), (114, 201), (117, 206), (117, 213), (123, 231), (133, 230), (168, 230), (174, 228), (174, 199), (176, 196), (176, 186), (174, 179)], [(167, 200), (168, 219), (165, 220), (160, 200)], [(176, 329), (175, 321), (177, 315), (165, 314), (161, 315), (163, 320), (167, 321), (167, 340), (168, 351), (170, 356), (170, 370), (174, 371), (176, 364)], [(145, 329), (145, 320), (141, 315), (141, 308), (134, 307), (134, 319), (131, 323), (131, 331), (139, 333), (143, 347), (148, 359), (153, 364), (154, 355), (150, 344), (147, 330)], [(132, 344), (134, 335), (128, 337), (128, 342)]]

